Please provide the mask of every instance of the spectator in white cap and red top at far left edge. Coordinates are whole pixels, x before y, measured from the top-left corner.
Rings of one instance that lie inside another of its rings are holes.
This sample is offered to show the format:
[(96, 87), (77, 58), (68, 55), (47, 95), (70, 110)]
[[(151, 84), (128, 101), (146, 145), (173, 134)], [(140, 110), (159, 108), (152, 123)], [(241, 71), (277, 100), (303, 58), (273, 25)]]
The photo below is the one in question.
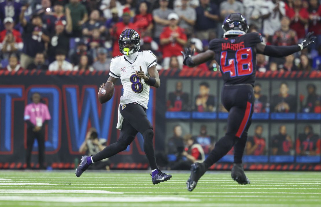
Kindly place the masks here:
[(18, 53), (23, 48), (21, 34), (13, 29), (14, 23), (11, 17), (3, 21), (4, 30), (0, 32), (0, 50), (4, 59), (8, 59), (10, 54)]

